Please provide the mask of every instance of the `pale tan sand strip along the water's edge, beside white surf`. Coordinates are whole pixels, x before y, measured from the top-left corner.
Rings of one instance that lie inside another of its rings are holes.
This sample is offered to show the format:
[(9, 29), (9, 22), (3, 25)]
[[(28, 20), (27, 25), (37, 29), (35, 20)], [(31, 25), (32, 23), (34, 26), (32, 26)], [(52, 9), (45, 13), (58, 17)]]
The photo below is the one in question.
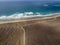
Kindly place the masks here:
[(60, 17), (60, 14), (58, 14), (58, 15), (49, 15), (49, 16), (37, 16), (37, 17), (29, 17), (29, 18), (20, 18), (20, 19), (1, 20), (0, 24), (25, 22), (25, 21), (33, 21), (33, 20), (45, 20), (45, 19), (51, 19), (51, 18), (56, 19), (57, 17)]

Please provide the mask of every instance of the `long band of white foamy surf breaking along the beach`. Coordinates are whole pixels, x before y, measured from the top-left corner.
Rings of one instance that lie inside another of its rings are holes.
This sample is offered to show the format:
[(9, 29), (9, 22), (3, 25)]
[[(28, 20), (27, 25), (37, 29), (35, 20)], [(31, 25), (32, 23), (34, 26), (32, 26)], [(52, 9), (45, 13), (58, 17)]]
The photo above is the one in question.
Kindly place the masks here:
[(52, 13), (52, 14), (42, 15), (38, 12), (36, 12), (36, 13), (24, 12), (24, 13), (12, 14), (10, 16), (3, 15), (3, 16), (0, 16), (0, 20), (31, 18), (31, 17), (39, 17), (39, 16), (51, 16), (51, 15), (56, 15), (56, 14), (60, 14), (60, 13)]

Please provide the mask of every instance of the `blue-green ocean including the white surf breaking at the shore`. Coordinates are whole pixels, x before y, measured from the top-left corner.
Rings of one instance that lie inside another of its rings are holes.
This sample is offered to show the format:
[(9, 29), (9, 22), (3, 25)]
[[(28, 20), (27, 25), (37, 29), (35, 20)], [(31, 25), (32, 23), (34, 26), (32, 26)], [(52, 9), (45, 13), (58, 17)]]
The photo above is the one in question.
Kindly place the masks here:
[(49, 16), (60, 13), (56, 1), (0, 1), (0, 20)]

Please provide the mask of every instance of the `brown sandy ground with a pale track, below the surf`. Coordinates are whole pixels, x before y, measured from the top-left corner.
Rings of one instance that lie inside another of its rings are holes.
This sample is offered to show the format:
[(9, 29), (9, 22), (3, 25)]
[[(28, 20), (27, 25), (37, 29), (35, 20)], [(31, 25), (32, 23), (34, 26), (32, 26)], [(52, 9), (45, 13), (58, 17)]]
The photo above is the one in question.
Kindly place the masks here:
[(1, 23), (0, 45), (60, 45), (60, 16)]

